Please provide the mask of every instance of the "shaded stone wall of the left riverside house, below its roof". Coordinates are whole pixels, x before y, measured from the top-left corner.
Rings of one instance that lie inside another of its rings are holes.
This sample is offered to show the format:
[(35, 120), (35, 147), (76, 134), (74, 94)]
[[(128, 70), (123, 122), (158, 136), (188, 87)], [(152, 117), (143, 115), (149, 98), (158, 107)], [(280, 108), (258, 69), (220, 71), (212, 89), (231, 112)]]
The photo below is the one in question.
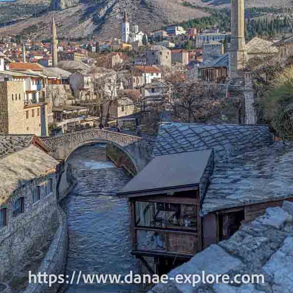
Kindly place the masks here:
[[(53, 180), (53, 192), (41, 192), (33, 203), (32, 190)], [(7, 226), (0, 229), (0, 282), (12, 289), (24, 289), (28, 271), (38, 271), (40, 262), (59, 227), (55, 174), (29, 181), (15, 190), (0, 208), (7, 208)], [(13, 204), (24, 198), (24, 211), (12, 215)]]

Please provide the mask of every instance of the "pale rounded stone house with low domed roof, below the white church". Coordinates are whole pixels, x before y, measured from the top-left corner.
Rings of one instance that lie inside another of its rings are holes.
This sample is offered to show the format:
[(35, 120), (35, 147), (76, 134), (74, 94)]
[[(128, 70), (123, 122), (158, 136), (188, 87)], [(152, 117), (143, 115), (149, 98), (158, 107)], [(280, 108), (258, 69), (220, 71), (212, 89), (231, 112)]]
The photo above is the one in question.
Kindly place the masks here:
[(171, 50), (160, 45), (153, 45), (146, 51), (146, 63), (148, 65), (162, 65), (171, 67)]

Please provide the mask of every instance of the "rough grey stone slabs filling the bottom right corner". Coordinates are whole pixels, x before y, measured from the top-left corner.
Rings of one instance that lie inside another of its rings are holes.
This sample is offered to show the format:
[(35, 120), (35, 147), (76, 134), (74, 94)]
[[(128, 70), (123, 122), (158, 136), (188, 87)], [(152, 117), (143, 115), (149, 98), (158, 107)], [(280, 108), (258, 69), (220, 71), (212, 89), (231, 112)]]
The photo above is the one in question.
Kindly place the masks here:
[(269, 208), (243, 224), (229, 240), (211, 245), (169, 272), (177, 274), (263, 274), (259, 284), (159, 284), (149, 293), (293, 293), (293, 203)]

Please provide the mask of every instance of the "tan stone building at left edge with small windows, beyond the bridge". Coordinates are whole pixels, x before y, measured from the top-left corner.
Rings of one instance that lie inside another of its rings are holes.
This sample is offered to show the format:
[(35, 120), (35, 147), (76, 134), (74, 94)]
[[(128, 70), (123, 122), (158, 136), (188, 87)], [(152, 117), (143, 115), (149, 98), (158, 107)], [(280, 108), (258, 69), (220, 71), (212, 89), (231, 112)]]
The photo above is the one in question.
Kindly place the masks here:
[(24, 96), (23, 81), (0, 82), (0, 132), (46, 136), (46, 103), (25, 105)]

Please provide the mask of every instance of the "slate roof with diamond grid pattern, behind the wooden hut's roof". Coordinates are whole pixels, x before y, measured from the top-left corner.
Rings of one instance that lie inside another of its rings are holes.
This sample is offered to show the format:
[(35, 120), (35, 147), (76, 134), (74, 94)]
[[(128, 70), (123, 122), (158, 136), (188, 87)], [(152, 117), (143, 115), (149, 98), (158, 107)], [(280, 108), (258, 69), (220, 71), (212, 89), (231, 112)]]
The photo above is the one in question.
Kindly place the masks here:
[(268, 126), (169, 124), (161, 126), (154, 156), (214, 149), (215, 161), (269, 146)]

